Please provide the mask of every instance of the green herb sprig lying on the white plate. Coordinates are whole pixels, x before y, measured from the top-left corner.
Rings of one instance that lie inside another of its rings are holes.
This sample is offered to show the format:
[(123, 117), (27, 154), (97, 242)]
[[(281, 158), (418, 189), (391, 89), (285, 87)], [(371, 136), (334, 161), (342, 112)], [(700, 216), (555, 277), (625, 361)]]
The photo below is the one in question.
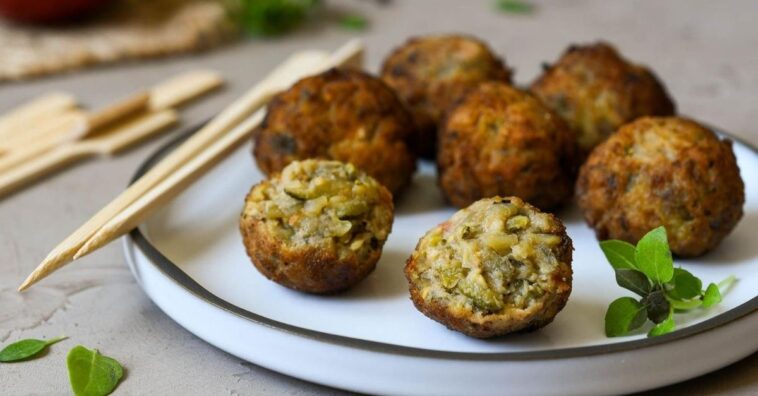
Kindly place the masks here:
[(642, 327), (649, 319), (655, 325), (648, 337), (670, 333), (676, 327), (675, 312), (708, 308), (721, 302), (721, 294), (736, 281), (730, 276), (703, 290), (703, 282), (689, 271), (674, 268), (664, 227), (648, 232), (637, 246), (619, 240), (600, 242), (600, 248), (616, 273), (619, 286), (640, 299), (621, 297), (605, 313), (605, 334), (618, 337)]

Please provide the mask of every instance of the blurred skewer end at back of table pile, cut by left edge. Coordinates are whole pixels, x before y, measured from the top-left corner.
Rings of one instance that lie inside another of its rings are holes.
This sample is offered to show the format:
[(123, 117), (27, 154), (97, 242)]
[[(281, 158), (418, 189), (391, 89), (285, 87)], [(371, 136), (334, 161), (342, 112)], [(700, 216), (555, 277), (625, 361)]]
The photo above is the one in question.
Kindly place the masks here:
[(76, 107), (76, 99), (63, 92), (52, 92), (33, 99), (0, 117), (0, 141), (34, 127), (38, 120), (52, 118)]

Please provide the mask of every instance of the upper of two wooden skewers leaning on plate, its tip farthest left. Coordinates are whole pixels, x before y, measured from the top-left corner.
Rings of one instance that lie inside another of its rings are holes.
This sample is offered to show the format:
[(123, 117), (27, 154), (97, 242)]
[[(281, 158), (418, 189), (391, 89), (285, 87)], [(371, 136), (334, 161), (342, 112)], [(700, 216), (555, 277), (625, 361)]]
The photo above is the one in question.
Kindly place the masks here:
[[(360, 52), (362, 52), (360, 42), (350, 42), (338, 50), (335, 55), (342, 57), (343, 63), (347, 63), (348, 61), (355, 61), (356, 58), (360, 58)], [(340, 63), (335, 61), (334, 64)], [(84, 246), (87, 240), (102, 225), (127, 208), (132, 202), (144, 195), (150, 188), (165, 179), (182, 164), (195, 157), (205, 147), (219, 140), (234, 125), (239, 124), (254, 111), (257, 111), (276, 92), (291, 85), (300, 77), (320, 70), (316, 65), (323, 65), (323, 54), (320, 52), (310, 51), (290, 57), (283, 65), (272, 72), (268, 78), (264, 79), (264, 81), (250, 89), (245, 95), (219, 113), (204, 128), (166, 156), (163, 161), (154, 166), (119, 197), (101, 209), (94, 217), (56, 246), (19, 286), (19, 291), (25, 290), (53, 271), (69, 263), (79, 249)]]

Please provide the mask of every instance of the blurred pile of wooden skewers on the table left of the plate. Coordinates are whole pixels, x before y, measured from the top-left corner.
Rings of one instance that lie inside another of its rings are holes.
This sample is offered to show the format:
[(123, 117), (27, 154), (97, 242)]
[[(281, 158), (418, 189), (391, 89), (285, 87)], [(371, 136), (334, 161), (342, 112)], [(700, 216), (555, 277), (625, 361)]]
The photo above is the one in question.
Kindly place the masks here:
[(179, 120), (176, 108), (222, 84), (196, 70), (101, 108), (85, 111), (74, 96), (53, 92), (0, 118), (0, 197), (74, 161), (113, 155)]

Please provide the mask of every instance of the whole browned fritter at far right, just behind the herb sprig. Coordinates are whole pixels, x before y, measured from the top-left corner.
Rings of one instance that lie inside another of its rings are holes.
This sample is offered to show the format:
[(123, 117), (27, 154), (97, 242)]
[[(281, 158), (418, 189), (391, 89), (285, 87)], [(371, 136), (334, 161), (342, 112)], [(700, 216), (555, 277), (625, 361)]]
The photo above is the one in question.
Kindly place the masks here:
[(644, 117), (600, 144), (576, 194), (598, 239), (637, 243), (666, 227), (671, 251), (699, 256), (742, 217), (745, 186), (732, 143), (678, 117)]

